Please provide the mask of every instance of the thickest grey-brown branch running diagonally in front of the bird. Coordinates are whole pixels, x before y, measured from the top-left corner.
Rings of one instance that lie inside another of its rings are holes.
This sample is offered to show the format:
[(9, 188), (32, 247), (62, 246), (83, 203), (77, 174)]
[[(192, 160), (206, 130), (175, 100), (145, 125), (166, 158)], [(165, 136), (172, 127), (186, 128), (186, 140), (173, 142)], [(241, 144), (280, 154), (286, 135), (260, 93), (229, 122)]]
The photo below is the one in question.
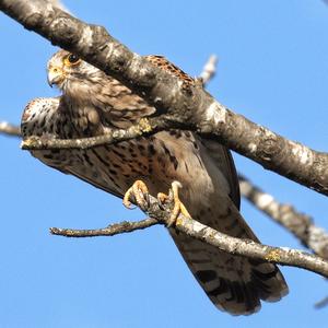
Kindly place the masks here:
[[(0, 10), (144, 97), (172, 128), (211, 134), (234, 151), (296, 183), (328, 195), (328, 154), (290, 141), (218, 103), (200, 85), (181, 85), (113, 38), (42, 0), (0, 0)], [(165, 114), (165, 115), (163, 115)]]

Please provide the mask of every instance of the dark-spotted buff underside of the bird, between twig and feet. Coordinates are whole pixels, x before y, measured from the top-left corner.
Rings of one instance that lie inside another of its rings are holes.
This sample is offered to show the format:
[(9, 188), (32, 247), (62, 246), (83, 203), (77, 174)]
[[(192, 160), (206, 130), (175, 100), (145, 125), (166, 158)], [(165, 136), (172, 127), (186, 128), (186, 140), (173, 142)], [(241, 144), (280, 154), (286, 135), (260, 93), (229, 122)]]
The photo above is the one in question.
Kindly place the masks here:
[(167, 192), (172, 181), (178, 180), (183, 199), (196, 204), (207, 201), (215, 188), (200, 148), (191, 132), (173, 130), (87, 150), (37, 151), (34, 155), (120, 197), (136, 179), (142, 179), (152, 195)]

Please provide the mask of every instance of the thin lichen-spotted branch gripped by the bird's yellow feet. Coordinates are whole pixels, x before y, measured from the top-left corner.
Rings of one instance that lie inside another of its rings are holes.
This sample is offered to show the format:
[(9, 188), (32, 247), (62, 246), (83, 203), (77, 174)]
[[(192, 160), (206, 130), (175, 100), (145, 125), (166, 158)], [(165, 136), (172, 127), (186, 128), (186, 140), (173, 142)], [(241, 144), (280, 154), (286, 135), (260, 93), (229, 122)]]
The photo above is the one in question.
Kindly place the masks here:
[[(162, 204), (152, 196), (144, 204), (143, 211), (151, 218), (140, 222), (122, 222), (99, 230), (72, 230), (51, 227), (50, 232), (66, 237), (113, 236), (120, 233), (145, 229), (156, 223), (166, 224), (171, 219), (172, 203)], [(239, 239), (222, 234), (198, 221), (179, 214), (175, 229), (213, 245), (223, 251), (260, 259), (282, 266), (303, 268), (328, 278), (328, 261), (305, 251), (286, 247), (272, 247), (257, 244), (249, 239)]]

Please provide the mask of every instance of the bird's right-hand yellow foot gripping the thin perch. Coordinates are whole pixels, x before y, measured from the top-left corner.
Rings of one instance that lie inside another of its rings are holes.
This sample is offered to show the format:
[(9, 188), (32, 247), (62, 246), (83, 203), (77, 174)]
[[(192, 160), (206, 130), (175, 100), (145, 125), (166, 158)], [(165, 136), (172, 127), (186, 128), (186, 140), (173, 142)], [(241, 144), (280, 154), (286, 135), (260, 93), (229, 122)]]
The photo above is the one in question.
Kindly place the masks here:
[(169, 215), (169, 219), (167, 221), (167, 227), (171, 227), (173, 224), (176, 223), (176, 220), (180, 213), (187, 218), (191, 218), (186, 207), (183, 204), (183, 202), (179, 199), (179, 192), (178, 192), (179, 188), (183, 188), (181, 184), (179, 181), (173, 181), (172, 188), (169, 189), (169, 194), (171, 194), (169, 196), (163, 192), (160, 192), (157, 195), (157, 199), (160, 200), (160, 202), (165, 202), (171, 200), (174, 201), (174, 207)]

